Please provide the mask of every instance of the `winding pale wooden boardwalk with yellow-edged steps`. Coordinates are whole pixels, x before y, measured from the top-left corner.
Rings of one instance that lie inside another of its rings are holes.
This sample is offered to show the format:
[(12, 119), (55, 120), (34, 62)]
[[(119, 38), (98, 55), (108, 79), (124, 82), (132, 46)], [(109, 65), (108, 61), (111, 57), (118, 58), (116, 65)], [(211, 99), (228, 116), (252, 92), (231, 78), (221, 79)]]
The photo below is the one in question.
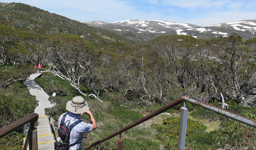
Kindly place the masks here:
[[(38, 77), (41, 73), (31, 74), (24, 82), (28, 87), (31, 95), (35, 95), (38, 100), (38, 106), (35, 109), (35, 113), (38, 114), (39, 118), (37, 121), (37, 143), (39, 150), (54, 150), (55, 135), (53, 134), (49, 117), (45, 115), (45, 108), (52, 107), (48, 101), (49, 96), (44, 92), (44, 90), (36, 84), (34, 79)], [(24, 126), (24, 132), (27, 133), (28, 124)], [(25, 138), (24, 138), (25, 142)], [(23, 145), (24, 145), (23, 142)], [(29, 149), (29, 146), (27, 147)]]

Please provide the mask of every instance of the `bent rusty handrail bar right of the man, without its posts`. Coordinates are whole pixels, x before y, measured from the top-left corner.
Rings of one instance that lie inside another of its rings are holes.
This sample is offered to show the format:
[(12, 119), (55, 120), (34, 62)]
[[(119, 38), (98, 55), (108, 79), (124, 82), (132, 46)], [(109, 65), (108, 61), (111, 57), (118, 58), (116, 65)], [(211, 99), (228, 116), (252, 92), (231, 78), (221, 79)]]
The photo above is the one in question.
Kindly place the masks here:
[[(103, 138), (103, 139), (101, 139), (101, 140), (99, 140), (99, 141), (97, 141), (97, 142), (95, 142), (95, 143), (93, 143), (93, 144), (87, 146), (87, 147), (84, 148), (83, 150), (86, 150), (86, 149), (89, 149), (89, 148), (91, 148), (91, 147), (93, 147), (93, 146), (96, 146), (96, 145), (98, 145), (98, 144), (100, 144), (100, 143), (102, 143), (102, 142), (104, 142), (104, 141), (106, 141), (106, 140), (108, 140), (108, 139), (110, 139), (110, 138), (112, 138), (112, 137), (118, 135), (118, 134), (121, 135), (122, 132), (125, 132), (125, 131), (131, 129), (131, 128), (133, 128), (134, 126), (139, 125), (139, 124), (143, 123), (144, 121), (147, 121), (148, 119), (151, 119), (151, 118), (157, 116), (158, 114), (160, 114), (160, 113), (162, 113), (162, 112), (165, 112), (166, 110), (168, 110), (168, 109), (170, 109), (170, 108), (173, 108), (173, 107), (179, 105), (179, 104), (182, 103), (182, 102), (190, 102), (190, 103), (193, 103), (193, 104), (195, 104), (195, 105), (197, 105), (197, 106), (203, 107), (203, 108), (208, 109), (208, 110), (210, 110), (210, 111), (216, 112), (216, 113), (218, 113), (218, 114), (221, 114), (221, 115), (223, 115), (223, 116), (226, 116), (226, 117), (228, 117), (228, 118), (234, 119), (234, 120), (236, 120), (236, 121), (245, 123), (245, 124), (247, 124), (247, 125), (250, 125), (250, 126), (256, 128), (256, 121), (255, 121), (255, 120), (252, 120), (252, 119), (249, 119), (249, 118), (240, 116), (240, 115), (238, 115), (238, 114), (232, 113), (232, 112), (230, 112), (230, 111), (227, 111), (227, 110), (224, 110), (224, 109), (221, 109), (221, 108), (212, 106), (212, 105), (210, 105), (210, 104), (207, 104), (207, 103), (205, 103), (205, 102), (196, 100), (196, 99), (194, 99), (194, 98), (190, 98), (190, 97), (188, 97), (188, 96), (182, 96), (182, 97), (179, 97), (178, 99), (176, 99), (176, 100), (170, 102), (169, 104), (165, 105), (164, 107), (162, 107), (162, 108), (160, 108), (160, 109), (158, 109), (158, 110), (156, 110), (156, 111), (154, 111), (154, 112), (148, 114), (147, 116), (145, 116), (145, 117), (143, 117), (143, 118), (141, 118), (141, 119), (139, 119), (139, 120), (133, 122), (132, 124), (130, 124), (130, 125), (128, 125), (128, 126), (122, 128), (122, 129), (120, 129), (120, 130), (114, 132), (113, 134), (111, 134), (111, 135), (109, 135), (109, 136), (106, 136), (105, 138)], [(121, 139), (121, 138), (120, 138), (120, 139)], [(184, 143), (184, 144), (185, 144), (185, 143)]]

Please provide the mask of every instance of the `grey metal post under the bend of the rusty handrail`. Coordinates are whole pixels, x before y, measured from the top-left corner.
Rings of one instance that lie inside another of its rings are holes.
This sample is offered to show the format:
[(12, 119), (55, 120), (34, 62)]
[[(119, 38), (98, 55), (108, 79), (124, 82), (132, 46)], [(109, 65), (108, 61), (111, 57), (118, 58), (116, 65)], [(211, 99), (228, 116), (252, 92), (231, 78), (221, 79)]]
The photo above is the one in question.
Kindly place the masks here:
[(187, 121), (188, 121), (188, 109), (186, 108), (186, 103), (184, 102), (184, 106), (180, 108), (178, 150), (185, 149)]

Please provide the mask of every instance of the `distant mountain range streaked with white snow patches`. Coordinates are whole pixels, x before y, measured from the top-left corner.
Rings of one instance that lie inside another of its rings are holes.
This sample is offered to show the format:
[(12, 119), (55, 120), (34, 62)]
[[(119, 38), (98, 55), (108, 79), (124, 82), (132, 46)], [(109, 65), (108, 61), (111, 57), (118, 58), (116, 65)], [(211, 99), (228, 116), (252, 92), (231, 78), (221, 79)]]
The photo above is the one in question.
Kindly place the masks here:
[(120, 35), (141, 37), (143, 40), (150, 40), (162, 34), (183, 34), (200, 39), (228, 36), (230, 33), (237, 33), (243, 40), (256, 37), (256, 20), (232, 21), (222, 24), (201, 27), (188, 23), (175, 23), (161, 20), (123, 20), (112, 23), (103, 21), (79, 21), (89, 26), (114, 30)]

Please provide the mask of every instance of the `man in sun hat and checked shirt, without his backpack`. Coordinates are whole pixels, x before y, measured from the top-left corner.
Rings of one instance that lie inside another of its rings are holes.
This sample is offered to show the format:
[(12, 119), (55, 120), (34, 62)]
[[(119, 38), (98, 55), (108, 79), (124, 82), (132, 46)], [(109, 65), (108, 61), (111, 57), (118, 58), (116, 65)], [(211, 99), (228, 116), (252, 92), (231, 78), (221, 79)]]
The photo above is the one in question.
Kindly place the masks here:
[[(70, 132), (69, 150), (82, 150), (81, 145), (83, 142), (84, 133), (90, 133), (97, 128), (96, 121), (89, 110), (88, 104), (81, 96), (74, 97), (71, 101), (67, 102), (66, 109), (70, 111), (65, 118), (65, 124), (69, 125), (83, 119), (82, 114), (85, 113), (89, 116), (90, 123), (84, 121), (78, 123)], [(63, 113), (58, 121), (60, 128), (60, 122), (65, 113)], [(70, 122), (69, 122), (69, 121)]]

